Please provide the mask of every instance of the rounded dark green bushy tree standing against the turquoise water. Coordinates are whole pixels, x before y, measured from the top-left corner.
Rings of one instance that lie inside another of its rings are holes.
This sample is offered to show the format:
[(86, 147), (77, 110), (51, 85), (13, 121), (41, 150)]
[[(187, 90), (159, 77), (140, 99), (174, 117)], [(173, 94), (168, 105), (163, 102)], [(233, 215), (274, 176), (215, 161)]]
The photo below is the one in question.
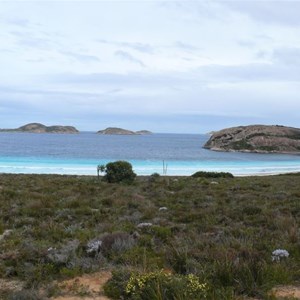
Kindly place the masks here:
[(104, 180), (107, 182), (125, 182), (132, 183), (136, 177), (136, 174), (132, 170), (132, 165), (127, 161), (115, 161), (108, 163), (104, 172)]

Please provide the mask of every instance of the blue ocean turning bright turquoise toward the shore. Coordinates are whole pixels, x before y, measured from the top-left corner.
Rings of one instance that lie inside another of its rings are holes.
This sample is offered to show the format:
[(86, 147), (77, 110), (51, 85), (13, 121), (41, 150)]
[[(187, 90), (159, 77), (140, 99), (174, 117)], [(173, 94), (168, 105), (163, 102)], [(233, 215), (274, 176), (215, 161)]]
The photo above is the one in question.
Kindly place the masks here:
[(97, 175), (97, 166), (126, 160), (138, 175), (237, 176), (300, 172), (300, 155), (215, 152), (201, 134), (98, 135), (0, 133), (0, 173)]

